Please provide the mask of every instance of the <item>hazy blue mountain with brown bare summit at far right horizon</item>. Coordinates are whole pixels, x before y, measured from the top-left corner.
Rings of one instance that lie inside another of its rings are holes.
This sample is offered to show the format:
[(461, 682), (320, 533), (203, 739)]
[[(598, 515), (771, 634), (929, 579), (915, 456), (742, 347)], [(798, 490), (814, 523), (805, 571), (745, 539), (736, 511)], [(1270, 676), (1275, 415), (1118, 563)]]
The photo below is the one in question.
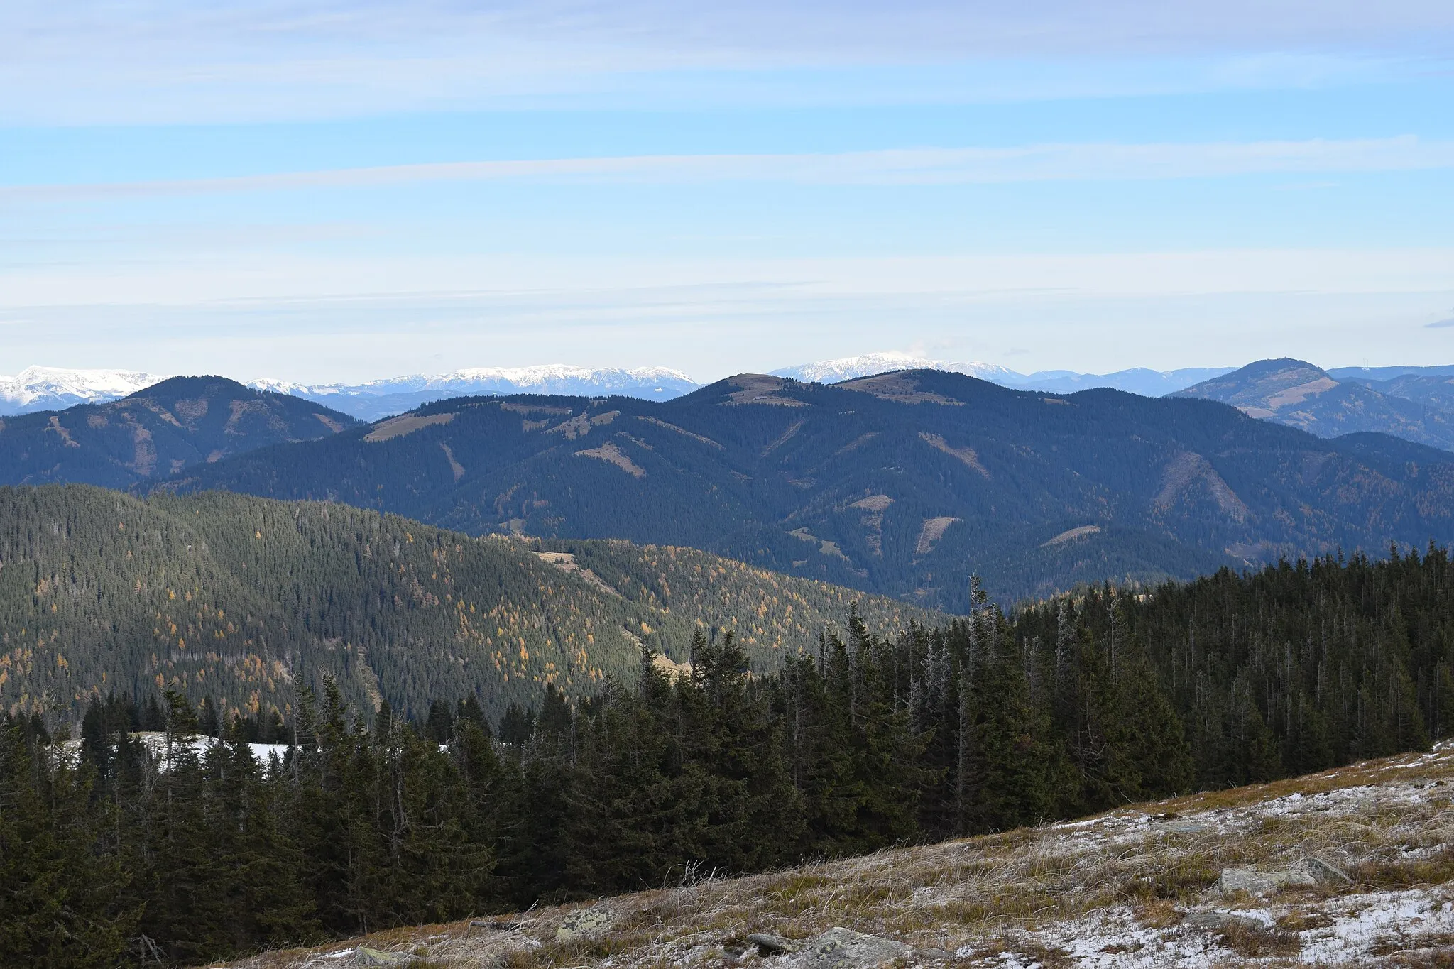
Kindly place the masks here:
[(1232, 404), (1319, 437), (1374, 431), (1454, 450), (1454, 368), (1387, 368), (1397, 373), (1377, 373), (1386, 379), (1358, 370), (1338, 379), (1306, 360), (1258, 360), (1176, 395)]

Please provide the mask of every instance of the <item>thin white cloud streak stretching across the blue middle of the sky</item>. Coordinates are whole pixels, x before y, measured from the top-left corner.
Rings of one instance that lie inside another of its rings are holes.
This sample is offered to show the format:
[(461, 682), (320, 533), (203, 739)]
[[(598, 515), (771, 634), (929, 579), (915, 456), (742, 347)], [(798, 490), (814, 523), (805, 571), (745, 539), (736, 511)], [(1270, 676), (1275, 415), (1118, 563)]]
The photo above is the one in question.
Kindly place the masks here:
[(0, 199), (375, 189), (430, 182), (974, 185), (1214, 179), (1281, 173), (1454, 167), (1454, 141), (1415, 137), (1195, 144), (1048, 144), (1021, 148), (896, 148), (838, 154), (701, 154), (446, 161), (220, 179), (0, 187)]

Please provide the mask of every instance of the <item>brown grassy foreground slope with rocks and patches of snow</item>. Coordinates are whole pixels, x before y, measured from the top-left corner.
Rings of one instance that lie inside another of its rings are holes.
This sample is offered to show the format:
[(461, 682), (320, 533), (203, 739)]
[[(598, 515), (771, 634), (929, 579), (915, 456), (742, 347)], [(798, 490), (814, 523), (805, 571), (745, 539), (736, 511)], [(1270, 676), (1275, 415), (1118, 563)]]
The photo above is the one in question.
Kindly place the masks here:
[[(792, 965), (747, 933), (842, 925), (912, 946), (907, 966), (1447, 966), (1454, 947), (1454, 744), (1320, 774), (1136, 805), (598, 902), (612, 930), (557, 941), (570, 908), (263, 953), (238, 969), (340, 965), (356, 946), (430, 966)], [(1220, 893), (1227, 867), (1316, 856), (1346, 883)]]

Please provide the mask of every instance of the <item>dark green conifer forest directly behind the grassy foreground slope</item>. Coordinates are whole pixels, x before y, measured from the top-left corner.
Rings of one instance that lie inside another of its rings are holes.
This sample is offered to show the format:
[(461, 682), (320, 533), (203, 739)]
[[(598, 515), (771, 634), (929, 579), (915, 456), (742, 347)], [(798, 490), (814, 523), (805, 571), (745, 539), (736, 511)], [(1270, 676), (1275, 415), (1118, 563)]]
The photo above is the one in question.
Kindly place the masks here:
[[(7, 569), (9, 571), (9, 569)], [(327, 674), (276, 709), (166, 687), (12, 710), (0, 962), (183, 965), (997, 831), (1419, 750), (1454, 731), (1454, 564), (1280, 562), (938, 625), (858, 612), (769, 664), (667, 667), (497, 715)], [(250, 744), (273, 744), (266, 760)]]

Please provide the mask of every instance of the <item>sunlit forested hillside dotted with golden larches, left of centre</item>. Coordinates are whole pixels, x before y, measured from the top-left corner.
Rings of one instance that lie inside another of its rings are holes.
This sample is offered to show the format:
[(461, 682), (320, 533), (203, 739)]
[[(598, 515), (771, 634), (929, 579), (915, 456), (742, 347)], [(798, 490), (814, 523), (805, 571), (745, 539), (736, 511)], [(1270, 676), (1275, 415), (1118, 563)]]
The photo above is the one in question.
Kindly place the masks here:
[[(580, 556), (580, 564), (571, 561)], [(468, 538), (339, 504), (0, 488), (0, 709), (176, 689), (286, 715), (333, 676), (365, 709), (471, 694), (490, 715), (686, 660), (733, 629), (763, 668), (842, 625), (933, 613), (678, 548)]]

